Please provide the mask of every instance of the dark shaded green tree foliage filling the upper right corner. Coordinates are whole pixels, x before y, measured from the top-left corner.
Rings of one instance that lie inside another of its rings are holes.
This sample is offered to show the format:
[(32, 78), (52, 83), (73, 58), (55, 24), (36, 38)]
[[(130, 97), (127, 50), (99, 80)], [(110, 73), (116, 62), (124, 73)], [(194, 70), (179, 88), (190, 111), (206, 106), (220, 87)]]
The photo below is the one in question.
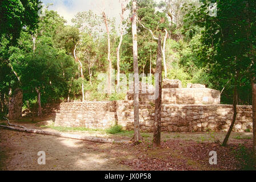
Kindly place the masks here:
[[(241, 104), (249, 104), (250, 93), (244, 97), (245, 90), (250, 88), (250, 77), (255, 75), (255, 6), (249, 1), (217, 1), (217, 16), (209, 15), (211, 1), (204, 1), (201, 6), (185, 5), (184, 30), (189, 32), (190, 39), (201, 30), (202, 49), (198, 52), (199, 65), (207, 75), (211, 75), (213, 88), (221, 90), (225, 87), (222, 103), (232, 100), (234, 86), (238, 86)], [(250, 6), (247, 6), (250, 3)], [(248, 18), (250, 14), (251, 18)], [(196, 47), (195, 47), (195, 50)], [(229, 81), (230, 80), (230, 81)], [(227, 82), (229, 81), (229, 84)]]

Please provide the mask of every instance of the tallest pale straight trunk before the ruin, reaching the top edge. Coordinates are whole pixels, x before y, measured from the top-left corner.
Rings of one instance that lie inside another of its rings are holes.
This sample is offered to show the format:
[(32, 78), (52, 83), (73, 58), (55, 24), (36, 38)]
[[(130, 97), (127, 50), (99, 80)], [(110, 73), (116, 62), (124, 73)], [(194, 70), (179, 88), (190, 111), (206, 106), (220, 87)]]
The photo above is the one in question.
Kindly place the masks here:
[(138, 43), (137, 43), (137, 1), (133, 0), (133, 69), (134, 69), (134, 143), (142, 139), (139, 129), (139, 68), (138, 68)]

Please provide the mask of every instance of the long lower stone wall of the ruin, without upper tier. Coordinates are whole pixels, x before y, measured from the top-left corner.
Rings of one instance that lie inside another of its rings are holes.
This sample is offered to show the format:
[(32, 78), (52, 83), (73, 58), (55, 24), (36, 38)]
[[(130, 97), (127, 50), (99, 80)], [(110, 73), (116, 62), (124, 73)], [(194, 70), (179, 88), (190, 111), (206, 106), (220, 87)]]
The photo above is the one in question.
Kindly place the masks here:
[[(70, 102), (48, 104), (45, 107), (55, 126), (106, 129), (118, 123), (133, 130), (133, 101)], [(232, 117), (232, 105), (162, 105), (162, 131), (201, 132), (227, 131)], [(153, 131), (154, 104), (139, 106), (142, 131)], [(252, 129), (251, 106), (238, 106), (234, 131)]]

